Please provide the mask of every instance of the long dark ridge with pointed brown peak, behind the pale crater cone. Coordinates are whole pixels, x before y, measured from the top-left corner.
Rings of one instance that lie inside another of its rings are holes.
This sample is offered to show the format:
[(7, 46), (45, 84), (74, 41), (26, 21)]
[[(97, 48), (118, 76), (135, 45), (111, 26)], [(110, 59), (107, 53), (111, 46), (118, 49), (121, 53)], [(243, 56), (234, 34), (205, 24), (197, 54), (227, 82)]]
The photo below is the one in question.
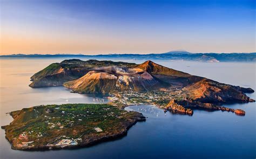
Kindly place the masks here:
[[(45, 69), (39, 71), (31, 77), (33, 81), (30, 86), (39, 88), (43, 86), (59, 86), (64, 82), (78, 79), (91, 70), (103, 71), (116, 75), (121, 84), (117, 84), (121, 89), (147, 90), (147, 87), (155, 85), (158, 81), (161, 84), (169, 84), (176, 87), (182, 87), (190, 83), (199, 81), (201, 77), (192, 76), (178, 70), (170, 69), (152, 61), (146, 61), (142, 64), (113, 62), (113, 61), (98, 61), (98, 60), (64, 60), (60, 63), (53, 63)], [(149, 75), (145, 74), (148, 73)], [(140, 75), (143, 74), (143, 75)], [(139, 75), (139, 76), (138, 76)], [(148, 80), (148, 77), (152, 79)], [(144, 83), (144, 79), (147, 82)], [(127, 81), (130, 84), (125, 84)], [(133, 83), (131, 82), (138, 82)], [(142, 86), (139, 86), (140, 83)], [(138, 89), (137, 89), (138, 88)]]

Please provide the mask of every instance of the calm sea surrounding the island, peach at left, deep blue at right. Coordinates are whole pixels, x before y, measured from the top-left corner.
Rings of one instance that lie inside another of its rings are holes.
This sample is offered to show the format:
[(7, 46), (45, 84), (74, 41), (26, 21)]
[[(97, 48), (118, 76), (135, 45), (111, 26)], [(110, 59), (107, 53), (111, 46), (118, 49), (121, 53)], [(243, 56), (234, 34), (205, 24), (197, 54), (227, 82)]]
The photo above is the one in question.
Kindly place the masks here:
[[(28, 86), (34, 73), (50, 63), (62, 60), (64, 59), (0, 59), (1, 125), (12, 121), (6, 112), (20, 110), (23, 107), (41, 104), (97, 103), (97, 100), (93, 99), (100, 97), (70, 93), (70, 90), (62, 86), (40, 89)], [(256, 90), (255, 63), (155, 62), (218, 82), (250, 86)], [(248, 96), (256, 99), (255, 93)], [(255, 158), (256, 103), (234, 104), (227, 107), (241, 108), (246, 111), (246, 115), (241, 117), (228, 112), (196, 110), (190, 117), (169, 112), (164, 114), (163, 110), (151, 105), (130, 106), (126, 109), (142, 112), (148, 117), (147, 121), (138, 122), (122, 139), (77, 150), (12, 150), (1, 129), (0, 158)]]

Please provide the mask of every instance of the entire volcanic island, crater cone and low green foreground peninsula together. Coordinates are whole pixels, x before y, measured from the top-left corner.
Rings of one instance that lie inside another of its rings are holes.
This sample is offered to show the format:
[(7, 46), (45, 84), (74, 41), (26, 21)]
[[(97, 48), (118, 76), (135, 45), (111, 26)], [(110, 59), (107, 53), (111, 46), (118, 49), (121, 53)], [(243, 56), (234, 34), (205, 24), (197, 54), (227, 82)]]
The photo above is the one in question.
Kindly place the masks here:
[(153, 104), (165, 112), (193, 115), (193, 110), (227, 111), (223, 104), (255, 102), (242, 88), (161, 66), (78, 59), (52, 63), (31, 77), (32, 88), (65, 86), (74, 93), (104, 93), (109, 104), (36, 106), (11, 112), (14, 121), (2, 126), (12, 148), (43, 150), (90, 146), (116, 139), (145, 117), (126, 112), (129, 105)]

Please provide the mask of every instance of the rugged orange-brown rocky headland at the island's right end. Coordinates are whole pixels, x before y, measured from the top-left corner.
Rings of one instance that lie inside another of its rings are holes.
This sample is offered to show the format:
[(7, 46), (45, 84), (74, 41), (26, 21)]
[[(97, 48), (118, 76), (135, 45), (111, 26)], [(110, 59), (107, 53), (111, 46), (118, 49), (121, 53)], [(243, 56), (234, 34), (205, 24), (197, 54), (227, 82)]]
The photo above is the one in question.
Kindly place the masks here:
[(254, 99), (245, 95), (246, 92), (254, 92), (251, 88), (241, 88), (240, 86), (219, 83), (207, 78), (190, 84), (182, 90), (183, 98), (171, 100), (166, 105), (167, 109), (186, 114), (193, 114), (191, 109), (199, 108), (245, 115), (243, 110), (234, 110), (221, 106), (221, 104), (255, 102)]

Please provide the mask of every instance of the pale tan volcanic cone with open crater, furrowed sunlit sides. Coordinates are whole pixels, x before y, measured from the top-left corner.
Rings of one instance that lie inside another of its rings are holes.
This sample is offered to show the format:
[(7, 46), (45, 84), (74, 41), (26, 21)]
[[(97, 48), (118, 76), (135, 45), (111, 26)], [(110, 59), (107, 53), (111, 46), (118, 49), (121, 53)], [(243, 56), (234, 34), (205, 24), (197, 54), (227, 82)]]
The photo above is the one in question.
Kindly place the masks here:
[(156, 89), (160, 85), (156, 78), (141, 69), (117, 66), (95, 68), (79, 79), (64, 83), (64, 86), (79, 93), (146, 91)]

